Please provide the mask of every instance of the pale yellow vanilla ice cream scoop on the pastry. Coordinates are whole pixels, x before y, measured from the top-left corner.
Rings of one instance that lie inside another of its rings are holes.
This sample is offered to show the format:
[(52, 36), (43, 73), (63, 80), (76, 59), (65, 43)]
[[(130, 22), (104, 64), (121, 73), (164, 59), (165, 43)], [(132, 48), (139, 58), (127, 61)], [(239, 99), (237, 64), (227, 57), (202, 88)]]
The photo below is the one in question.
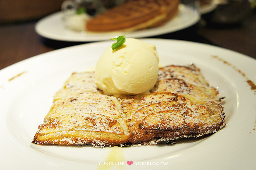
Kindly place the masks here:
[(107, 48), (98, 60), (96, 85), (108, 95), (148, 92), (157, 81), (158, 62), (154, 44), (126, 38), (115, 50)]

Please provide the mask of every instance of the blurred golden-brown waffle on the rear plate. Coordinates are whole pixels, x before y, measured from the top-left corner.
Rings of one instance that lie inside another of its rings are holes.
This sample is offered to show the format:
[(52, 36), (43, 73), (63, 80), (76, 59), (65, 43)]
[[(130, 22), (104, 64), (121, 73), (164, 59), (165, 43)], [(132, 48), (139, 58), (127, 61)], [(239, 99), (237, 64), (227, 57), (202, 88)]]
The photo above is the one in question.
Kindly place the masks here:
[(88, 32), (133, 31), (160, 26), (178, 12), (180, 0), (127, 0), (91, 18)]

